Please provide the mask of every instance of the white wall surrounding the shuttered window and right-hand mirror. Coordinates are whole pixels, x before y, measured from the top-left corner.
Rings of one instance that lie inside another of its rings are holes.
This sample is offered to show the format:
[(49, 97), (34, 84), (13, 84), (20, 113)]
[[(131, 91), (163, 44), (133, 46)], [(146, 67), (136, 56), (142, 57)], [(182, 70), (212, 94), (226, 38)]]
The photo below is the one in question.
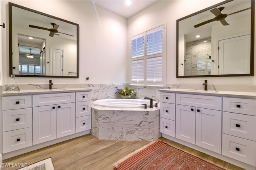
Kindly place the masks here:
[[(158, 0), (148, 8), (128, 18), (127, 41), (129, 42), (129, 38), (133, 35), (160, 23), (167, 22), (167, 84), (200, 84), (202, 83), (200, 80), (204, 78), (176, 78), (176, 20), (222, 1), (223, 0)], [(254, 75), (256, 75), (256, 60), (254, 61)], [(256, 85), (256, 76), (212, 77), (207, 79), (209, 84)]]

